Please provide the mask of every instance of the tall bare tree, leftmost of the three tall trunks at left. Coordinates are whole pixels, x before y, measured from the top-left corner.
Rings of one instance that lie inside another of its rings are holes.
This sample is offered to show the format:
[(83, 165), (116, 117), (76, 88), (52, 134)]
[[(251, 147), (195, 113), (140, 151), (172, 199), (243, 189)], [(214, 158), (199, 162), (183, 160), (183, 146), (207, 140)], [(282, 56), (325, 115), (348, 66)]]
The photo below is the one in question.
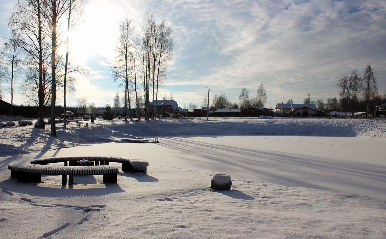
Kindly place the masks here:
[[(15, 39), (18, 39), (17, 44), (27, 54), (25, 64), (29, 65), (29, 73), (32, 73), (34, 79), (37, 79), (38, 88), (38, 106), (39, 106), (39, 127), (45, 128), (43, 121), (44, 114), (44, 61), (49, 57), (49, 44), (47, 42), (47, 34), (45, 33), (46, 19), (44, 18), (43, 0), (20, 0), (15, 4), (16, 12), (11, 14), (8, 19), (8, 27)], [(31, 76), (27, 79), (31, 79)], [(46, 78), (47, 79), (47, 78)]]

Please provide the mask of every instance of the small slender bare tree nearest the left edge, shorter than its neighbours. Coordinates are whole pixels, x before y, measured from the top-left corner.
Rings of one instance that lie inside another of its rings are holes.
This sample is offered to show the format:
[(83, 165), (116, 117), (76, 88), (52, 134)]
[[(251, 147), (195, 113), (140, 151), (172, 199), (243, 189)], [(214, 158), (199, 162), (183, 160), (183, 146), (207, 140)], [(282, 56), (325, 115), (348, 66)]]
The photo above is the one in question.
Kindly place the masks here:
[(2, 56), (5, 59), (5, 64), (9, 65), (9, 68), (7, 67), (7, 74), (5, 74), (5, 81), (11, 83), (11, 116), (13, 115), (14, 104), (14, 80), (20, 65), (19, 56), (22, 53), (22, 49), (18, 46), (17, 42), (17, 39), (8, 40), (8, 42), (4, 44), (3, 51), (1, 52)]

